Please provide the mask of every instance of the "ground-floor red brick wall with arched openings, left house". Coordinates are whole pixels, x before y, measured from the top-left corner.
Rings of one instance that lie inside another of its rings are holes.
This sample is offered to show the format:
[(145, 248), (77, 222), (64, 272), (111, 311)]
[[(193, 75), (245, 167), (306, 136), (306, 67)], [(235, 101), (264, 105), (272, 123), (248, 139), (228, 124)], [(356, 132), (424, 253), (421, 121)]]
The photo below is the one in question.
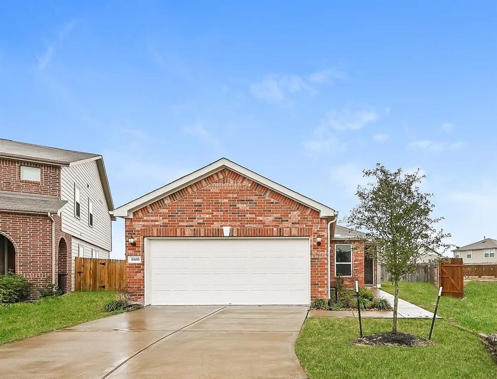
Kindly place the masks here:
[[(55, 220), (55, 282), (58, 273), (58, 242), (61, 237), (68, 244), (66, 265), (71, 274), (71, 236), (61, 231), (61, 219)], [(52, 275), (52, 221), (48, 215), (22, 213), (0, 213), (1, 234), (7, 237), (15, 248), (15, 273), (24, 276), (31, 284), (30, 298), (39, 297), (38, 289), (46, 284)], [(68, 277), (69, 290), (71, 276)]]

